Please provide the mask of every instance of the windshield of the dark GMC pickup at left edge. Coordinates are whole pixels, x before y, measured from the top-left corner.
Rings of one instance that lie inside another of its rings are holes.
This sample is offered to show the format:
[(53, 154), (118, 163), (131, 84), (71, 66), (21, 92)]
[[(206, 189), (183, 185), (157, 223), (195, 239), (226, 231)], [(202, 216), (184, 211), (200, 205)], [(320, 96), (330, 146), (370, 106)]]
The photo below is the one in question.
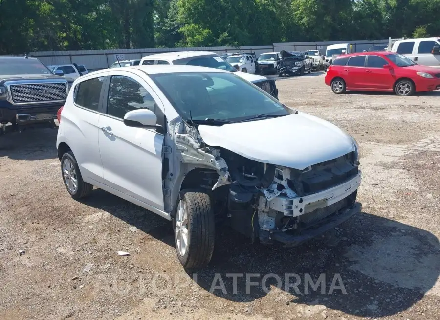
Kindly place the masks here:
[(26, 58), (0, 59), (0, 75), (52, 74), (39, 60)]

